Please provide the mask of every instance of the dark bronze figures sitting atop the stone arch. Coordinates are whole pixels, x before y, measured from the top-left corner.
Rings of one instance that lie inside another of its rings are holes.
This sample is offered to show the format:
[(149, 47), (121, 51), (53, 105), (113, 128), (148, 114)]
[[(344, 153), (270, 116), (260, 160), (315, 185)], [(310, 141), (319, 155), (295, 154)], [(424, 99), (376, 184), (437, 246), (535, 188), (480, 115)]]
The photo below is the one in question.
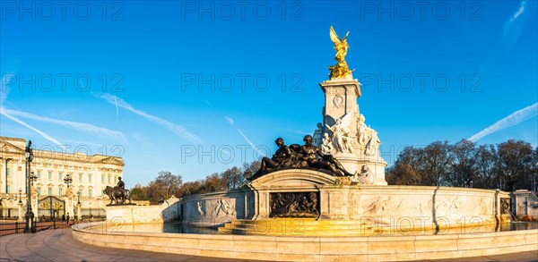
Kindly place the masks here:
[(345, 170), (342, 164), (332, 155), (323, 154), (320, 148), (312, 144), (312, 136), (306, 135), (303, 139), (304, 145), (292, 144), (290, 147), (284, 144), (282, 138), (274, 142), (278, 149), (273, 157), (262, 158), (260, 169), (247, 180), (252, 181), (256, 178), (278, 170), (283, 169), (314, 169), (333, 175), (353, 175)]

